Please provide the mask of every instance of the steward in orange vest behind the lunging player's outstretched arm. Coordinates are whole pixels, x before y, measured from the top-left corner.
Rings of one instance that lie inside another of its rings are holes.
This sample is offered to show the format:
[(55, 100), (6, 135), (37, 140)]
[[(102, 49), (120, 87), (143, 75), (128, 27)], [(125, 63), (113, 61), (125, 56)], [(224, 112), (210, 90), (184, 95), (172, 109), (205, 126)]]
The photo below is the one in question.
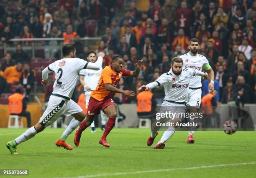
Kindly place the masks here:
[(137, 95), (137, 114), (140, 118), (148, 117), (154, 113), (156, 100), (151, 91), (142, 91)]

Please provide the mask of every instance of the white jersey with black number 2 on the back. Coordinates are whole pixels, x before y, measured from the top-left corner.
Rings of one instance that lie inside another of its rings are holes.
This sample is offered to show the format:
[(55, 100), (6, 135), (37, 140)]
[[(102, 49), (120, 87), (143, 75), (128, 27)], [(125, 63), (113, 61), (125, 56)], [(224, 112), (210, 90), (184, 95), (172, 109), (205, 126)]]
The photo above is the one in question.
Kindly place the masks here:
[(71, 98), (77, 83), (78, 73), (80, 70), (86, 69), (88, 63), (79, 58), (63, 58), (51, 63), (48, 70), (55, 73), (56, 79), (52, 93)]

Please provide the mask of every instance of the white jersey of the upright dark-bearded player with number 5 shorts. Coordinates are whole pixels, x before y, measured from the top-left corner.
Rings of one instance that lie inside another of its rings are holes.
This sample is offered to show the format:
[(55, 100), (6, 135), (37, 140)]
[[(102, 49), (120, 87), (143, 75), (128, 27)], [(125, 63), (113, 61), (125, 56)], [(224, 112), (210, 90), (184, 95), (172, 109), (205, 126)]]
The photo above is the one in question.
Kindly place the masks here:
[[(186, 68), (186, 69), (190, 68), (190, 69), (202, 71), (202, 68), (205, 65), (209, 64), (205, 56), (200, 54), (197, 54), (196, 56), (192, 56), (188, 52), (187, 54), (181, 55), (180, 58), (182, 58), (183, 60), (183, 68)], [(199, 88), (199, 87), (202, 87), (201, 77), (193, 76), (190, 79), (189, 88)]]

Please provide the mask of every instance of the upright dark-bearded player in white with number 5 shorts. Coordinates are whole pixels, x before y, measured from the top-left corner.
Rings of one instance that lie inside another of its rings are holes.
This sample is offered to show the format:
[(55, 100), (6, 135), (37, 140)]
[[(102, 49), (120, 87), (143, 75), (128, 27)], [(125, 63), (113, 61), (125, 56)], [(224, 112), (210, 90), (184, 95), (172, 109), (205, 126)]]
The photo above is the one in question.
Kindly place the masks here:
[[(189, 52), (180, 56), (180, 58), (182, 58), (183, 60), (183, 68), (192, 68), (200, 71), (202, 71), (202, 68), (204, 68), (209, 73), (209, 78), (211, 80), (209, 83), (209, 91), (212, 92), (214, 90), (214, 72), (205, 56), (197, 53), (198, 50), (200, 50), (199, 40), (196, 38), (192, 38), (189, 41)], [(201, 96), (201, 78), (198, 76), (194, 76), (191, 78), (189, 83), (189, 95), (187, 106), (190, 106), (190, 113), (196, 113), (197, 108), (200, 108)], [(189, 121), (192, 123), (194, 120), (189, 119)], [(195, 128), (190, 127), (189, 129), (190, 130), (189, 136), (187, 138), (187, 143), (194, 143), (195, 140), (193, 138), (193, 135), (195, 133)]]

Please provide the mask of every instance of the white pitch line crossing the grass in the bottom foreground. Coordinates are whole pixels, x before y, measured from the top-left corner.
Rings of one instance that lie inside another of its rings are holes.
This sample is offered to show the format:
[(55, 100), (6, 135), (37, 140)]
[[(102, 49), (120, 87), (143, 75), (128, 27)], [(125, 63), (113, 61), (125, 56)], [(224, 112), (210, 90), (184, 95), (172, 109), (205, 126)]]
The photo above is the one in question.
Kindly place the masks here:
[(84, 175), (84, 176), (81, 175), (81, 176), (77, 176), (77, 177), (65, 177), (65, 178), (95, 178), (95, 177), (102, 177), (102, 176), (140, 174), (140, 173), (157, 173), (157, 172), (166, 172), (166, 171), (173, 171), (173, 170), (191, 170), (191, 169), (215, 168), (215, 167), (248, 165), (248, 164), (256, 164), (256, 162), (236, 163), (236, 164), (219, 164), (219, 165), (203, 165), (203, 166), (199, 166), (199, 167), (190, 167), (190, 168), (171, 168), (171, 169), (157, 169), (157, 170), (141, 170), (141, 171), (134, 171), (134, 172), (105, 173), (105, 174)]

